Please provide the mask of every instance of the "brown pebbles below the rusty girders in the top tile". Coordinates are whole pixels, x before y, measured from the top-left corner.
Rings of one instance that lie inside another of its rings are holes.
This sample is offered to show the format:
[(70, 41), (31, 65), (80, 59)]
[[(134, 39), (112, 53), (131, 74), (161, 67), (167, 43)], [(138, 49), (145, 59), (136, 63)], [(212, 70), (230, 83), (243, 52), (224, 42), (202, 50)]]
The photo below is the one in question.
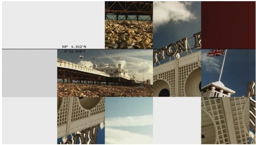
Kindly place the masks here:
[(153, 48), (153, 22), (105, 20), (105, 48), (127, 49), (130, 46), (135, 49)]

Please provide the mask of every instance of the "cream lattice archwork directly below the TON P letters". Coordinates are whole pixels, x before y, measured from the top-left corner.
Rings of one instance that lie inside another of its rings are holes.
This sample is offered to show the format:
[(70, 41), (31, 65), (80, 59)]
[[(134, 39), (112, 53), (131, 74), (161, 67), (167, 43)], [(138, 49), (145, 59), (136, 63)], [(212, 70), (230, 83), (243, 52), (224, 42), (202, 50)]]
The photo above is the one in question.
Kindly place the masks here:
[[(186, 85), (186, 83), (200, 83), (201, 81), (201, 51), (180, 57), (176, 60), (166, 62), (153, 68), (153, 96), (159, 96), (160, 90), (166, 88), (172, 97), (200, 96), (199, 86)], [(197, 74), (191, 76), (193, 80), (187, 81), (190, 74), (197, 71)], [(191, 88), (191, 87), (195, 87)]]

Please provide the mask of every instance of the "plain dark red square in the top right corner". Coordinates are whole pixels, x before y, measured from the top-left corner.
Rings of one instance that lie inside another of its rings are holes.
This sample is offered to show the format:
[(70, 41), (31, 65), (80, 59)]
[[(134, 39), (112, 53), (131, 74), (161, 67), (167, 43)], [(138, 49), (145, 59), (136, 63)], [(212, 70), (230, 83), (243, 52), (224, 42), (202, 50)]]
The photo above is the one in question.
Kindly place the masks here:
[(255, 50), (255, 1), (202, 2), (202, 34), (202, 49)]

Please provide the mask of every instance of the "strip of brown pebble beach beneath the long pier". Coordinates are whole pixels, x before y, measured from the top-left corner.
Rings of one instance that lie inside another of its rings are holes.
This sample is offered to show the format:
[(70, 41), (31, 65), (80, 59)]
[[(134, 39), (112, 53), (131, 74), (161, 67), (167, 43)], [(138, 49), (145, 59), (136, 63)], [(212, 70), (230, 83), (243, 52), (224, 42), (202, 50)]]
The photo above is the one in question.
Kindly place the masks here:
[(153, 97), (153, 87), (58, 83), (58, 97)]

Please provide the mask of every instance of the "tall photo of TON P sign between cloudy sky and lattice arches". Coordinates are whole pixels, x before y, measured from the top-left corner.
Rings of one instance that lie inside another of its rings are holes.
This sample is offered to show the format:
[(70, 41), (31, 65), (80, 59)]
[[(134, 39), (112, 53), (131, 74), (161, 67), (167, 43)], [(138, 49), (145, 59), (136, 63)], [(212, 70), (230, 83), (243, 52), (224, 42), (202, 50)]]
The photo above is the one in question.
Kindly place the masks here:
[(201, 2), (153, 6), (153, 96), (200, 97)]

